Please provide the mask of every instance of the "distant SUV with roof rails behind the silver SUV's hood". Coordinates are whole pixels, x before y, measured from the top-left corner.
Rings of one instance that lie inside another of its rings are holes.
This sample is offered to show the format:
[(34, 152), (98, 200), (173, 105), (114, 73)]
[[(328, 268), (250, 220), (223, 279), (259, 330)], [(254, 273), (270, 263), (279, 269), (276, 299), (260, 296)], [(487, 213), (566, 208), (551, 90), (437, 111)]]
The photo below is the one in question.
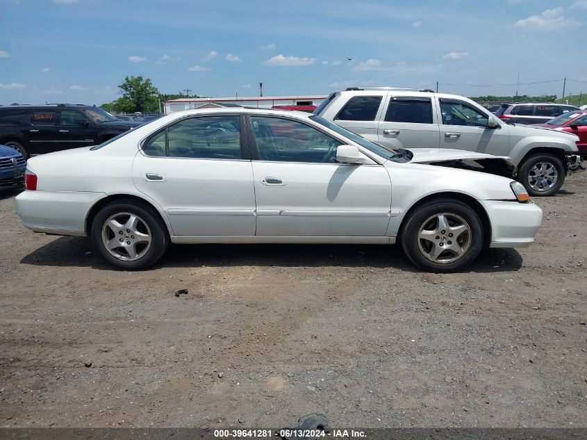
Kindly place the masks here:
[(544, 124), (553, 117), (570, 111), (577, 111), (575, 106), (554, 104), (552, 102), (515, 102), (513, 104), (502, 104), (495, 115), (505, 122), (517, 124)]

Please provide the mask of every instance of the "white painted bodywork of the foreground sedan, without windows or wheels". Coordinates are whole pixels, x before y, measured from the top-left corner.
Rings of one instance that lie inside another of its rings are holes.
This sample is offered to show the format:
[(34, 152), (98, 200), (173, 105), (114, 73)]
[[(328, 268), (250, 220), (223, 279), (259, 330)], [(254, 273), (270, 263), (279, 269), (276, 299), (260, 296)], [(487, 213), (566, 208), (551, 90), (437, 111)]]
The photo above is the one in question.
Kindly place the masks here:
[[(267, 113), (222, 109), (223, 114), (242, 112)], [(160, 127), (204, 113), (220, 112), (174, 113), (101, 149), (32, 158), (28, 169), (38, 175), (38, 188), (17, 196), (24, 225), (33, 231), (86, 235), (86, 220), (94, 204), (111, 195), (129, 195), (154, 206), (174, 243), (394, 243), (415, 203), (439, 193), (458, 193), (476, 199), (486, 210), (493, 246), (527, 245), (540, 226), (540, 208), (518, 203), (511, 179), (417, 163), (493, 157), (480, 153), (422, 149), (415, 151), (411, 163), (398, 163), (352, 140), (347, 143), (378, 163), (154, 158), (140, 152), (141, 142)], [(317, 126), (306, 113), (270, 114)], [(341, 138), (326, 127), (320, 129)], [(164, 180), (146, 181), (147, 172), (160, 173)], [(284, 184), (265, 185), (266, 177), (280, 177)]]

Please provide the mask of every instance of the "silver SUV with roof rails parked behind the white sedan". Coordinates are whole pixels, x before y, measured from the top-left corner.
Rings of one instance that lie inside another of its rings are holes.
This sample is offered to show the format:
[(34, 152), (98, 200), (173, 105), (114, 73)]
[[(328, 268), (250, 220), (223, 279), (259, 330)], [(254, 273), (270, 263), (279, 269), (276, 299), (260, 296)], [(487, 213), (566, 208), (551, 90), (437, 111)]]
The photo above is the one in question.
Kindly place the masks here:
[(450, 148), (509, 156), (531, 195), (553, 195), (581, 170), (577, 136), (506, 124), (471, 99), (403, 88), (347, 88), (314, 111), (393, 148)]

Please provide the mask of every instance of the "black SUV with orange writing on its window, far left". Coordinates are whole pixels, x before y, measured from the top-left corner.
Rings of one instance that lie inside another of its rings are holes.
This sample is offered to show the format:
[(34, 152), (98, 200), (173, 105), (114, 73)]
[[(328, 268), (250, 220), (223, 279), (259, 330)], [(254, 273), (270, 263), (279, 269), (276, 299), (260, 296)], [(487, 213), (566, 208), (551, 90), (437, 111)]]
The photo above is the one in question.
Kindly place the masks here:
[(100, 144), (141, 122), (119, 121), (96, 106), (0, 107), (0, 144), (28, 156)]

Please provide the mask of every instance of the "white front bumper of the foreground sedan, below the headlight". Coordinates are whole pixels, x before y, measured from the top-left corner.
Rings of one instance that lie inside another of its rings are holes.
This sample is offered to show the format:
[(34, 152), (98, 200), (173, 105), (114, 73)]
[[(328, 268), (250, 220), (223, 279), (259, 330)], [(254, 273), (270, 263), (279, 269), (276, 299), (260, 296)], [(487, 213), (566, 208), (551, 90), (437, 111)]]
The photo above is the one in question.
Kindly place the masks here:
[(542, 209), (534, 203), (479, 200), (491, 223), (489, 247), (524, 247), (534, 243)]

